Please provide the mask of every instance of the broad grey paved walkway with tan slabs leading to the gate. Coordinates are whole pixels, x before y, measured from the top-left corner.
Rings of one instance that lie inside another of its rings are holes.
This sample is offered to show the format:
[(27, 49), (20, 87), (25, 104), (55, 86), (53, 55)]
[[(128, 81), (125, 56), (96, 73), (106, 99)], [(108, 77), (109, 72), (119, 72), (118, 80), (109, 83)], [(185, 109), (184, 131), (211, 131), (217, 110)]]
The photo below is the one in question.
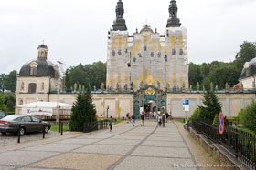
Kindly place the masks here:
[[(57, 140), (59, 139), (59, 140)], [(38, 143), (3, 149), (0, 169), (197, 169), (187, 143), (173, 123), (158, 127), (114, 125), (103, 130), (72, 137), (57, 137)]]

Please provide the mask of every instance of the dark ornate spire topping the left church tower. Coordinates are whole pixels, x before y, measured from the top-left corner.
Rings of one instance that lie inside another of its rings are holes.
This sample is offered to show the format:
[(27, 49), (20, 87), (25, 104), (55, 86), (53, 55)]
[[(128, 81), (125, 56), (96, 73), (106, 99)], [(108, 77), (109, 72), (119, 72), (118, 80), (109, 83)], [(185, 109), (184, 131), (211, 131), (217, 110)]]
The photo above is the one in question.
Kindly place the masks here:
[(125, 19), (123, 19), (124, 8), (122, 0), (119, 0), (115, 9), (116, 19), (113, 22), (113, 31), (126, 31), (127, 27), (125, 24)]

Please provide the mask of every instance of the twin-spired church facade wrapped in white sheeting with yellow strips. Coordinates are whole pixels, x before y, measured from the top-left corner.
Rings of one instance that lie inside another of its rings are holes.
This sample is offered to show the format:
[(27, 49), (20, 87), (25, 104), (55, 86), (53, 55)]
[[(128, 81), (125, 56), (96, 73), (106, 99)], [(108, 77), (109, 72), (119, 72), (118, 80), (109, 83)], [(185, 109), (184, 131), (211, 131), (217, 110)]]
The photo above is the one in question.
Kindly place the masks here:
[(119, 1), (109, 32), (106, 87), (135, 91), (147, 85), (162, 90), (188, 88), (187, 29), (180, 27), (176, 1), (169, 6), (163, 35), (150, 25), (129, 35), (123, 14), (123, 2)]

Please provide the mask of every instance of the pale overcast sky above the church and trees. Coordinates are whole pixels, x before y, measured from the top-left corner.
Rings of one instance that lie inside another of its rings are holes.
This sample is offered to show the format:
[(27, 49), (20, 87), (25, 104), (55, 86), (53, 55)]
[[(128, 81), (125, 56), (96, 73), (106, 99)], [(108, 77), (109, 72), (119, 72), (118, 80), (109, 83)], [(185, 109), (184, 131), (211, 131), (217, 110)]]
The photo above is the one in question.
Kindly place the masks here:
[[(118, 0), (0, 0), (0, 74), (37, 58), (67, 67), (106, 61)], [(170, 0), (123, 0), (130, 35), (147, 20), (164, 35)], [(243, 41), (256, 41), (256, 0), (176, 0), (187, 27), (189, 62), (232, 61)]]

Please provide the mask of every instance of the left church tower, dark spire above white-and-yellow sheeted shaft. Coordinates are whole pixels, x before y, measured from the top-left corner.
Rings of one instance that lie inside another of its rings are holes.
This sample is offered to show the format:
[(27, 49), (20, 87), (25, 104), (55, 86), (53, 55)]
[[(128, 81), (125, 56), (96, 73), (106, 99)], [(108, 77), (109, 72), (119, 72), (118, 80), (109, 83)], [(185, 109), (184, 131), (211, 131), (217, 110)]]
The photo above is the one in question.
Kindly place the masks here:
[(121, 0), (118, 1), (116, 19), (113, 22), (112, 30), (109, 32), (108, 59), (107, 59), (107, 82), (108, 89), (128, 87), (128, 32), (123, 18), (124, 7)]

